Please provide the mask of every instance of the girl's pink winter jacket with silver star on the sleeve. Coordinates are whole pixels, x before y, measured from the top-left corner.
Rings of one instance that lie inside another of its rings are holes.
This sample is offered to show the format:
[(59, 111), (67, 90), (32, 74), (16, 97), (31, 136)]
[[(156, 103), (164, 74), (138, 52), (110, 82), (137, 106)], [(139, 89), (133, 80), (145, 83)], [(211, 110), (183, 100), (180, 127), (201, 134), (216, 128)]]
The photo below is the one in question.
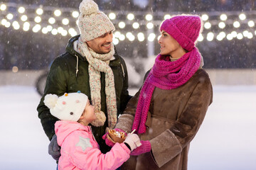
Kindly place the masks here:
[(60, 120), (55, 123), (55, 134), (61, 147), (59, 170), (117, 169), (129, 159), (130, 150), (124, 143), (102, 154), (90, 126)]

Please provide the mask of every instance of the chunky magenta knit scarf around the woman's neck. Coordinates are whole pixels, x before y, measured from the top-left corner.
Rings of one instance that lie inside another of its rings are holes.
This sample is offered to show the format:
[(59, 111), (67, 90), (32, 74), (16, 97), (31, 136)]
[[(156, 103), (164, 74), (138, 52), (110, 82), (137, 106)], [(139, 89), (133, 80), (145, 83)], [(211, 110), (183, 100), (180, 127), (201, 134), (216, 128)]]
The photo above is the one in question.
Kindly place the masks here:
[(200, 60), (201, 54), (196, 47), (175, 62), (170, 62), (169, 56), (156, 57), (154, 66), (139, 94), (132, 130), (135, 129), (138, 134), (146, 132), (146, 116), (155, 87), (170, 90), (185, 84), (198, 70)]

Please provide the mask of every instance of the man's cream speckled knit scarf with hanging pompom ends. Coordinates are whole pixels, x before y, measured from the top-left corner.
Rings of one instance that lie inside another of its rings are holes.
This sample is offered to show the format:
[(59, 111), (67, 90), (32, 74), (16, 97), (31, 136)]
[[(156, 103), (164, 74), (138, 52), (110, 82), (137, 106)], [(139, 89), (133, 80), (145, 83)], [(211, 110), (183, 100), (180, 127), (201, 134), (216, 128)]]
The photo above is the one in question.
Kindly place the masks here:
[(101, 110), (101, 95), (100, 95), (100, 72), (105, 72), (105, 94), (107, 103), (107, 120), (108, 127), (114, 128), (117, 123), (117, 98), (114, 89), (114, 74), (110, 68), (110, 59), (114, 55), (114, 45), (111, 46), (111, 51), (107, 54), (100, 55), (94, 52), (87, 46), (86, 42), (78, 39), (78, 52), (86, 57), (89, 62), (89, 77), (90, 77), (90, 94), (92, 104), (95, 106), (96, 120), (91, 124), (94, 126), (102, 126), (105, 123), (105, 113)]

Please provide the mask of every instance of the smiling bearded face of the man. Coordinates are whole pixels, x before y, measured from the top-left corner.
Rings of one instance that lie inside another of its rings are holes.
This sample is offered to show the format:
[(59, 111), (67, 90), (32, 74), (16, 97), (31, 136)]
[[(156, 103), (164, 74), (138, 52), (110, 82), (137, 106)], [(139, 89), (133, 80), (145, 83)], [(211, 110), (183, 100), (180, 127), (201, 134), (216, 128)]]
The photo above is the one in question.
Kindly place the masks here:
[(106, 54), (111, 50), (113, 34), (112, 31), (98, 38), (87, 41), (87, 45), (98, 54)]

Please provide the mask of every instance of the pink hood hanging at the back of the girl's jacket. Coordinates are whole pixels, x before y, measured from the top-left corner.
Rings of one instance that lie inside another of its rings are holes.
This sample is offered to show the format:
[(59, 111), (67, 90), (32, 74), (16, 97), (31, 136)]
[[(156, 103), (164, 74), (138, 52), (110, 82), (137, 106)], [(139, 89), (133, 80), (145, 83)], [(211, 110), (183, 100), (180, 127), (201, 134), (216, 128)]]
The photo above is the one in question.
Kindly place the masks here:
[(55, 134), (57, 135), (58, 145), (63, 144), (64, 140), (68, 135), (76, 130), (85, 130), (89, 132), (90, 127), (81, 125), (75, 121), (59, 120), (55, 123)]

